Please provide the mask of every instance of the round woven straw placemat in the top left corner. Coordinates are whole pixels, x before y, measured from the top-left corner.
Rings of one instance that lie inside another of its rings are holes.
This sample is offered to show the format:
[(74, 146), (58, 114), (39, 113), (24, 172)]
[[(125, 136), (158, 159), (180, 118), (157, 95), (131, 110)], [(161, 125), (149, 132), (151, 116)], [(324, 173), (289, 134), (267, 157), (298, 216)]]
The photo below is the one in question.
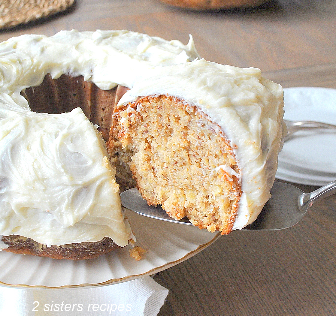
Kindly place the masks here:
[(64, 11), (74, 0), (0, 0), (0, 29)]

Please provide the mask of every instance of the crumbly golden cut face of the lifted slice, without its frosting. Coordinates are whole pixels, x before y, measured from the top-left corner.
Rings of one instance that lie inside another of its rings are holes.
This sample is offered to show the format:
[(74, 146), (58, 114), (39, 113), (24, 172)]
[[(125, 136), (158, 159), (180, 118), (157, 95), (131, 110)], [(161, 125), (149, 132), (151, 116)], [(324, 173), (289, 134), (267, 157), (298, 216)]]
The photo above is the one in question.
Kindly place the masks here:
[(196, 106), (166, 95), (116, 106), (108, 151), (128, 166), (148, 204), (199, 228), (232, 230), (242, 192), (226, 170), (239, 168), (221, 128)]

